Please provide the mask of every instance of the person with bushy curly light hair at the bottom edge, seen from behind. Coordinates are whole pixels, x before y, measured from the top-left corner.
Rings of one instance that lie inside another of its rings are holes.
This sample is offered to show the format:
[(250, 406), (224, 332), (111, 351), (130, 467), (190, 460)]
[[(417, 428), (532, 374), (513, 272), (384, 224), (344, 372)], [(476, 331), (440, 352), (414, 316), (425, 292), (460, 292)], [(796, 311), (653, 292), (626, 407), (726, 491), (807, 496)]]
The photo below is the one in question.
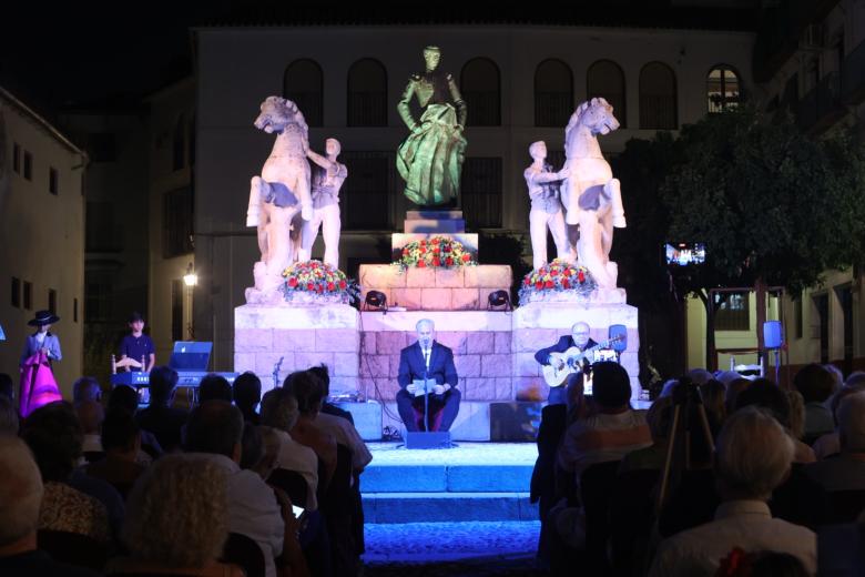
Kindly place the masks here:
[(217, 561), (228, 535), (228, 496), (220, 467), (203, 457), (169, 455), (130, 496), (122, 539), (130, 556), (109, 574), (245, 575)]

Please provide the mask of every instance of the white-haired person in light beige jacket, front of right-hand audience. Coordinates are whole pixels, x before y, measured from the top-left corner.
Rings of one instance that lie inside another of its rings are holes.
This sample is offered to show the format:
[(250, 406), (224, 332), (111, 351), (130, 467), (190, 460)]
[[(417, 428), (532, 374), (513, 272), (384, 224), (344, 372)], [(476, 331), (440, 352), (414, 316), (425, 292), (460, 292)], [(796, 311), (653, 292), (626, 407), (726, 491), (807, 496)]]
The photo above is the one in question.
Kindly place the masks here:
[(790, 473), (795, 447), (781, 424), (761, 408), (731, 415), (718, 437), (714, 520), (661, 543), (651, 576), (712, 576), (731, 550), (770, 550), (797, 557), (816, 571), (816, 535), (772, 518), (766, 502)]

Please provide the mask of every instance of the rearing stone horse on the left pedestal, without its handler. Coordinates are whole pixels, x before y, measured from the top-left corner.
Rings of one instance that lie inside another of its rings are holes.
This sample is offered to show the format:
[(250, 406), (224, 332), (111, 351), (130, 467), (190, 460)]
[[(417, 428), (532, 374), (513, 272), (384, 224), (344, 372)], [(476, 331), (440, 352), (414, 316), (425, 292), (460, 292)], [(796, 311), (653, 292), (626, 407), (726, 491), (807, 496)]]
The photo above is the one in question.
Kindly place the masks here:
[(293, 225), (292, 221), (298, 213), (305, 221), (313, 217), (306, 160), (309, 129), (297, 105), (279, 97), (268, 97), (262, 102), (255, 128), (276, 134), (262, 174), (252, 178), (246, 212), (246, 226), (258, 229), (262, 253), (253, 273), (255, 288), (273, 296), (283, 282), (283, 271), (297, 259), (299, 223)]

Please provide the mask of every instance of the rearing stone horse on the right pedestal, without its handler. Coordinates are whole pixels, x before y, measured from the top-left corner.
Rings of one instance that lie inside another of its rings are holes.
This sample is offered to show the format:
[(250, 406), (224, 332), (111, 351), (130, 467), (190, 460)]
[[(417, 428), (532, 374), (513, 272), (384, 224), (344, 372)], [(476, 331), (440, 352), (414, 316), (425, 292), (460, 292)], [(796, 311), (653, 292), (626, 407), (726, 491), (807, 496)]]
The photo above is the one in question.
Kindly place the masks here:
[(600, 288), (615, 288), (618, 267), (610, 261), (613, 226), (624, 229), (624, 209), (618, 179), (598, 145), (598, 134), (619, 128), (612, 107), (602, 98), (583, 102), (564, 129), (564, 169), (570, 175), (562, 186), (564, 222), (579, 225), (577, 255)]

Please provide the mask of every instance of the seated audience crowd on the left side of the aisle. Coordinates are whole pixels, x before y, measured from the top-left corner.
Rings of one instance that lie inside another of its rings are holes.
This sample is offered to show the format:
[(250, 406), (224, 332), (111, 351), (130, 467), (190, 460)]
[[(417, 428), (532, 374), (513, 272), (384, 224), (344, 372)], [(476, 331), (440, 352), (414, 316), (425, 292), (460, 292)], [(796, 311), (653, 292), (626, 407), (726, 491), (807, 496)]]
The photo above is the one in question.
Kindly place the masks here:
[(252, 373), (210, 375), (191, 408), (170, 367), (150, 382), (145, 408), (82, 377), (26, 419), (0, 388), (0, 575), (358, 575), (372, 454), (322, 412), (326, 367), (263, 399)]

